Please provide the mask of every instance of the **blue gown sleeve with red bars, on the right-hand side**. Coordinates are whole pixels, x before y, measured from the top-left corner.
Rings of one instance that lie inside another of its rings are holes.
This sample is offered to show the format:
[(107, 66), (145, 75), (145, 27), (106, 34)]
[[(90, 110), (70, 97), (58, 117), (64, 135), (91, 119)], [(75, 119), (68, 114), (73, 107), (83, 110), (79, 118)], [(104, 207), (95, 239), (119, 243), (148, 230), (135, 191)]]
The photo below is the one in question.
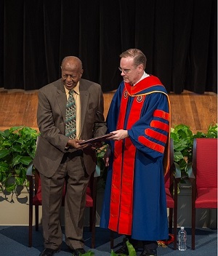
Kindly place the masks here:
[(149, 157), (163, 156), (170, 129), (167, 96), (153, 92), (146, 96), (140, 119), (128, 130), (134, 146)]

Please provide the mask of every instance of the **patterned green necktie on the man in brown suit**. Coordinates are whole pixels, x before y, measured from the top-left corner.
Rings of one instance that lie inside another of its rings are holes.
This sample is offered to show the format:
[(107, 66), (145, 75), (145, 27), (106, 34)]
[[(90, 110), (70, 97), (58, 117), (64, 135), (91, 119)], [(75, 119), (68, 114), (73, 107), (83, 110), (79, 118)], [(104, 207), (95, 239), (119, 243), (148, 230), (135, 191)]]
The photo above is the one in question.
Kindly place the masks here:
[(70, 139), (76, 138), (76, 103), (73, 97), (73, 89), (69, 92), (69, 97), (66, 105), (66, 127), (65, 135)]

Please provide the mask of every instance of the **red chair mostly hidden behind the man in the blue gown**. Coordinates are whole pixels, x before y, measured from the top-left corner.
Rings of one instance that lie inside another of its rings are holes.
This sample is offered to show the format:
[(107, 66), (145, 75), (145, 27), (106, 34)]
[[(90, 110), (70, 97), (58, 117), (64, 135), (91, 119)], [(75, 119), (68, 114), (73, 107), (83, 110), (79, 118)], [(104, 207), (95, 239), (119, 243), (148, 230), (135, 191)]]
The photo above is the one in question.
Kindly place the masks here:
[(169, 161), (169, 172), (165, 176), (166, 207), (169, 208), (169, 233), (172, 233), (172, 223), (174, 223), (174, 249), (177, 249), (177, 190), (181, 172), (174, 166), (174, 141), (172, 139), (170, 139)]

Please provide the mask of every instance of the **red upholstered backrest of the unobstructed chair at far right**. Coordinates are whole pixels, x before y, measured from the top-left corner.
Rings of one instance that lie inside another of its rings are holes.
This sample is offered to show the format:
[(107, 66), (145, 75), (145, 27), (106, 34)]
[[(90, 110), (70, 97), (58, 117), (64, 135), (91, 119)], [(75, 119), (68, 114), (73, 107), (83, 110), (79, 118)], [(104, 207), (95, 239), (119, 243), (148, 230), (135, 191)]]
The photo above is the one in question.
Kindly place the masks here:
[(217, 139), (194, 139), (193, 165), (197, 190), (217, 188)]

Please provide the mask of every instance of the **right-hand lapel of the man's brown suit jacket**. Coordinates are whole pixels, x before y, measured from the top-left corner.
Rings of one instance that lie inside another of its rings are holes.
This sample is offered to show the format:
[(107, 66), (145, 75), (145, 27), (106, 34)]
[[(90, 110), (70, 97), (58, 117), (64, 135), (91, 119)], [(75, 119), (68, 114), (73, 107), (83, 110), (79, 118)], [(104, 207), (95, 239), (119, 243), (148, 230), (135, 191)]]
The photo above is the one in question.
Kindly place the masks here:
[(80, 102), (81, 102), (81, 131), (83, 131), (87, 105), (89, 102), (89, 90), (86, 88), (86, 83), (83, 79), (79, 82)]

